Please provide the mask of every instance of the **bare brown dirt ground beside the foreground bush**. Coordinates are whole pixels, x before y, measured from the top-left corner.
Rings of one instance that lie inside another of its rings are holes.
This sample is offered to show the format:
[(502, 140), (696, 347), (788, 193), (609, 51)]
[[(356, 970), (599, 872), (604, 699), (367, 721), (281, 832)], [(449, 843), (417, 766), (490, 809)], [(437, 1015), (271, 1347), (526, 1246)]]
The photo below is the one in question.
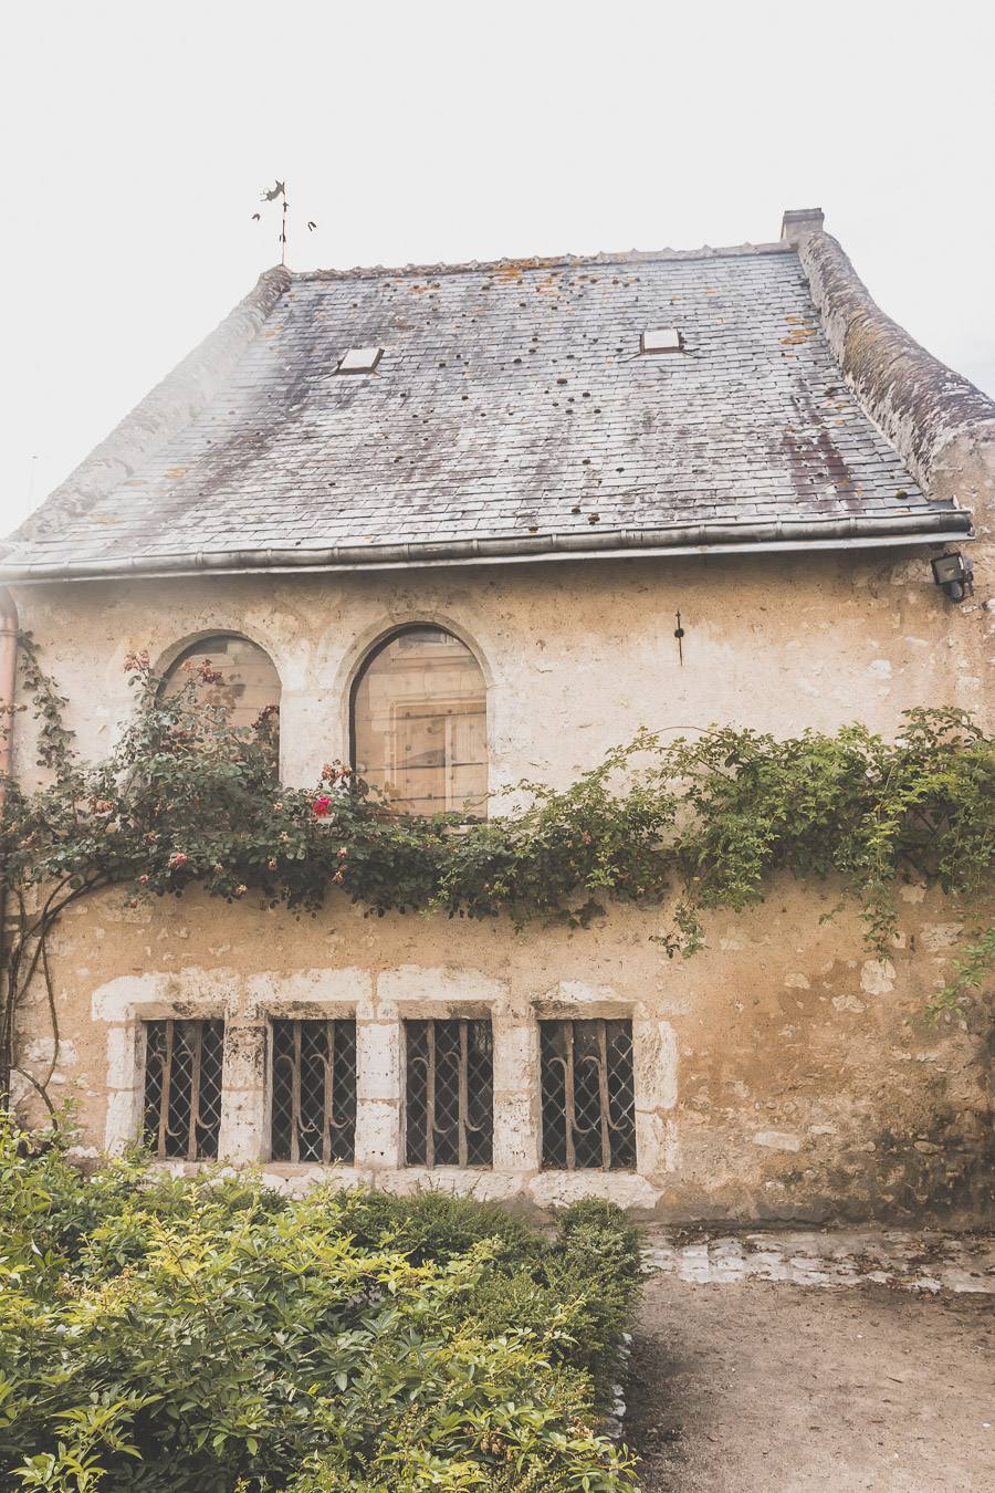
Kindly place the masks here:
[(995, 1493), (995, 1296), (658, 1275), (627, 1400), (644, 1493)]

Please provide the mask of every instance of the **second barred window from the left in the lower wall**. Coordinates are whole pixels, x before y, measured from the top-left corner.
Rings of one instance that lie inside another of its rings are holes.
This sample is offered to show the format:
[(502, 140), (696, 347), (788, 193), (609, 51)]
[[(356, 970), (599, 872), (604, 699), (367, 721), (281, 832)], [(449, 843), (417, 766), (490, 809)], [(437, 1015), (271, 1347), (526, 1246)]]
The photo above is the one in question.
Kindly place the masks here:
[(271, 1157), (352, 1163), (355, 1021), (274, 1021)]

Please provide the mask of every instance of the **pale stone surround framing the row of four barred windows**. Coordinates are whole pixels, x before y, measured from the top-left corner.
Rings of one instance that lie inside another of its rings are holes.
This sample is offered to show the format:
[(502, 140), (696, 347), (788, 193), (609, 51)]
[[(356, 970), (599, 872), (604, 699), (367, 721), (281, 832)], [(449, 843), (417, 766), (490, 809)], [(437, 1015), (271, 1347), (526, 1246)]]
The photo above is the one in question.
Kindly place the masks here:
[[(571, 982), (561, 982), (571, 991)], [(307, 996), (303, 997), (304, 990)], [(374, 997), (374, 990), (376, 997)], [(431, 991), (439, 991), (433, 996)], [(313, 994), (312, 994), (313, 991)], [(328, 991), (321, 993), (319, 991)], [(592, 991), (594, 996), (594, 991)], [(631, 1202), (637, 1193), (667, 1185), (677, 1166), (670, 1111), (677, 1102), (677, 1045), (673, 1026), (650, 1015), (641, 1000), (512, 999), (507, 979), (473, 969), (397, 966), (376, 976), (361, 967), (295, 973), (233, 969), (119, 976), (92, 996), (94, 1023), (106, 1023), (107, 1109), (104, 1148), (115, 1151), (140, 1135), (145, 1100), (143, 1023), (163, 1018), (225, 1023), (219, 1159), (255, 1163), (271, 1185), (306, 1187), (334, 1172), (343, 1185), (371, 1182), (398, 1191), (446, 1187), (479, 1197), (527, 1196), (539, 1206), (577, 1196)], [(489, 1020), (494, 1033), (492, 1168), (416, 1168), (404, 1165), (403, 1023)], [(631, 1020), (635, 1091), (635, 1171), (542, 1168), (540, 1020)], [(357, 1136), (352, 1166), (316, 1162), (276, 1163), (270, 1153), (270, 1020), (343, 1018), (357, 1023)], [(197, 1169), (198, 1162), (155, 1162), (158, 1168)], [(633, 1184), (638, 1181), (637, 1193)]]

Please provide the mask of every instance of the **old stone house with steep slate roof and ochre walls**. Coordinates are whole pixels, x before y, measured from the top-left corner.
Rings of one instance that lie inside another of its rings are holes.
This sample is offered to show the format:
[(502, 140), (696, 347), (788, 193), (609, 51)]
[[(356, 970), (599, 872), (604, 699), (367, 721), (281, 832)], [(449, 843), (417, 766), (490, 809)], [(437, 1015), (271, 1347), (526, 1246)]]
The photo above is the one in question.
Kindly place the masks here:
[[(894, 736), (958, 703), (991, 727), (994, 503), (992, 402), (789, 212), (728, 249), (269, 270), (0, 579), (87, 755), (127, 717), (131, 649), (210, 657), (246, 717), (279, 699), (283, 781), (355, 755), (436, 808), (565, 785), (643, 724)], [(968, 540), (956, 602), (931, 558)], [(15, 758), (33, 772), (27, 730)], [(516, 935), (109, 891), (52, 950), (55, 1079), (79, 1081), (84, 1150), (172, 1087), (164, 1157), (286, 1185), (337, 1159), (667, 1220), (980, 1220), (989, 1026), (916, 1024), (959, 929), (905, 891), (885, 963), (853, 915), (819, 923), (820, 885), (716, 914), (685, 963), (650, 939), (661, 909)]]

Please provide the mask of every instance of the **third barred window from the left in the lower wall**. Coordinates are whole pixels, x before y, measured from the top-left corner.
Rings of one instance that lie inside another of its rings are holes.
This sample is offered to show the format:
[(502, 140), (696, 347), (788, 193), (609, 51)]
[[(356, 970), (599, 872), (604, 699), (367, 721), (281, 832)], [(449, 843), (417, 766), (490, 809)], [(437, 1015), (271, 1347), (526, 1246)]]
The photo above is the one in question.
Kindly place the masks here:
[(404, 1156), (409, 1166), (491, 1166), (494, 1044), (489, 1021), (406, 1021)]

